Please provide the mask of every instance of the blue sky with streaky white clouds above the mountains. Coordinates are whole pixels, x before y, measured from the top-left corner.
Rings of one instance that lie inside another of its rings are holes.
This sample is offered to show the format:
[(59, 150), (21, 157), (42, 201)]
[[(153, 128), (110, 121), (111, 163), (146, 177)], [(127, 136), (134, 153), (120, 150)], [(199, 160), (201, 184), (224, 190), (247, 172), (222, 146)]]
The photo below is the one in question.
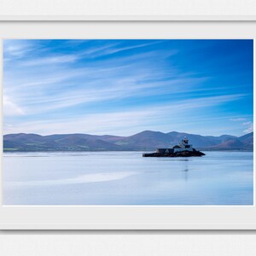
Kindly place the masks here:
[(253, 131), (253, 40), (4, 40), (3, 133)]

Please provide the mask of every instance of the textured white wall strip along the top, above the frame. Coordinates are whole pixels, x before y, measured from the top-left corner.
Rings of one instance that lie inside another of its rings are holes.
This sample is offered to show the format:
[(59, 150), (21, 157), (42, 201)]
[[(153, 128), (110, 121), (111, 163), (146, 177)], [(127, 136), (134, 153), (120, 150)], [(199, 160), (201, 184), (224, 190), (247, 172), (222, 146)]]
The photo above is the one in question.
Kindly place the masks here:
[[(0, 16), (256, 16), (255, 0), (0, 0)], [(39, 17), (38, 17), (39, 16)], [(67, 19), (67, 17), (66, 17)]]

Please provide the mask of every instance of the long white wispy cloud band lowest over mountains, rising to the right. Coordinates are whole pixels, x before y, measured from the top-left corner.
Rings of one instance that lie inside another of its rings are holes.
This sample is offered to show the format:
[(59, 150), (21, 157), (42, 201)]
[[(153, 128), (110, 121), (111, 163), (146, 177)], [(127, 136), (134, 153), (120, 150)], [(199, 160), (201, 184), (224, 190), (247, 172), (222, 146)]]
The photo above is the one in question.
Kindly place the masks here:
[(179, 116), (189, 115), (195, 109), (206, 109), (224, 102), (236, 101), (240, 97), (241, 95), (202, 97), (196, 100), (178, 101), (172, 105), (155, 105), (151, 108), (133, 107), (126, 111), (74, 113), (73, 116), (65, 116), (65, 118), (28, 121), (20, 123), (19, 127), (5, 127), (5, 130), (8, 130), (7, 133), (25, 130), (39, 134), (72, 133), (75, 125), (77, 127), (76, 132), (80, 133), (131, 135), (132, 132), (136, 133), (138, 129), (143, 131), (147, 130), (148, 127), (154, 127), (152, 123), (161, 122), (164, 125), (163, 120), (165, 119), (171, 122), (176, 120), (177, 124), (183, 123), (183, 118), (179, 119)]

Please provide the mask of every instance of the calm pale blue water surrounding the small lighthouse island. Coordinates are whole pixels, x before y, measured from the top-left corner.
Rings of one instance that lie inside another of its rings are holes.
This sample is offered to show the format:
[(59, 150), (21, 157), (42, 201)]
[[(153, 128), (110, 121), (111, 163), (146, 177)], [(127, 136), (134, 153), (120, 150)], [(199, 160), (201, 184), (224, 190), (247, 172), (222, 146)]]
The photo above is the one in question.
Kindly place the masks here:
[(4, 205), (253, 205), (253, 153), (3, 154)]

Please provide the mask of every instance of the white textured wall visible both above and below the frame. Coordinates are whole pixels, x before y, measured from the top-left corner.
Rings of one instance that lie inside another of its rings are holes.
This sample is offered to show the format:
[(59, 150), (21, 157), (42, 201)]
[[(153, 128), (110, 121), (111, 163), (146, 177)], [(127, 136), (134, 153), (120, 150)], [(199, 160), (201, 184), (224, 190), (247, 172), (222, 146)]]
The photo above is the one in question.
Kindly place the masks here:
[[(0, 0), (0, 20), (54, 15), (255, 17), (255, 0)], [(154, 17), (153, 17), (154, 18)], [(231, 18), (230, 18), (231, 19)], [(9, 255), (256, 255), (256, 231), (0, 231)]]

